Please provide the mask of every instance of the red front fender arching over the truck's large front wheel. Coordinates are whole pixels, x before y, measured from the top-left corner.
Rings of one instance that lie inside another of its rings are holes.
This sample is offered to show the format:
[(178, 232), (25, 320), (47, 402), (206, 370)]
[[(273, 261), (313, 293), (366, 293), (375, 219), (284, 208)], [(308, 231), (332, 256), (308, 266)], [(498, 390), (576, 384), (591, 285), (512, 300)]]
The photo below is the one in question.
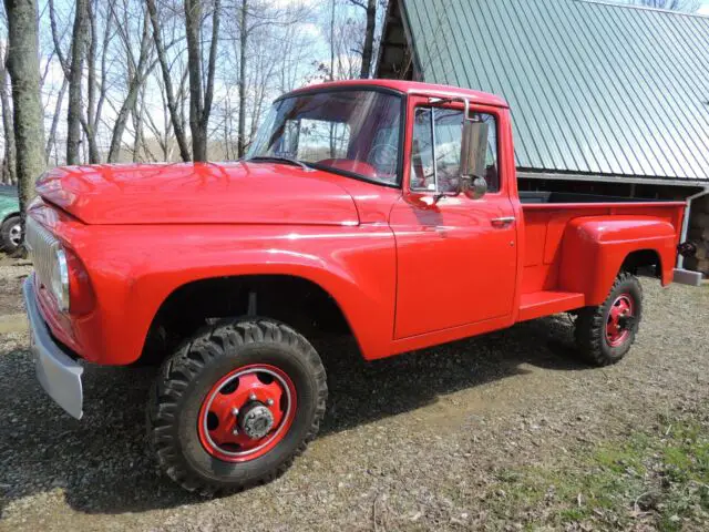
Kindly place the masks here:
[[(109, 252), (111, 233), (131, 238), (132, 246)], [(82, 258), (101, 317), (99, 364), (136, 360), (155, 314), (181, 286), (244, 275), (290, 275), (320, 286), (339, 305), (366, 358), (391, 341), (395, 249), (387, 226), (103, 227), (97, 238), (103, 244), (84, 249)]]

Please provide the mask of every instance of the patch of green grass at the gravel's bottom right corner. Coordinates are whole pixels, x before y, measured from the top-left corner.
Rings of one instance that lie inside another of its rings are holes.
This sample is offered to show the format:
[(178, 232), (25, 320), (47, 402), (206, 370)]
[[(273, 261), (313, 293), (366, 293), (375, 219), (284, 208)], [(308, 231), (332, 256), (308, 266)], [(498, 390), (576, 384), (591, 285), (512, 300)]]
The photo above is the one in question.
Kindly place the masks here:
[(531, 530), (709, 530), (709, 424), (688, 416), (661, 427), (553, 466), (497, 471), (487, 510)]

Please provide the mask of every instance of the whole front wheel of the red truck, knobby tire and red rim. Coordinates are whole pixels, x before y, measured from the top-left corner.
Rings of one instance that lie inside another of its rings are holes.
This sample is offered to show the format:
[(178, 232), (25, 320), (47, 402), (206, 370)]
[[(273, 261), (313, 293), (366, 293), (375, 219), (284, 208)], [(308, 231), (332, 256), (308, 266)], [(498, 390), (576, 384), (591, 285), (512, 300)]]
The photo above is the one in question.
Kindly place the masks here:
[(320, 357), (290, 327), (222, 321), (165, 361), (148, 405), (161, 469), (206, 493), (265, 482), (318, 431), (327, 383)]

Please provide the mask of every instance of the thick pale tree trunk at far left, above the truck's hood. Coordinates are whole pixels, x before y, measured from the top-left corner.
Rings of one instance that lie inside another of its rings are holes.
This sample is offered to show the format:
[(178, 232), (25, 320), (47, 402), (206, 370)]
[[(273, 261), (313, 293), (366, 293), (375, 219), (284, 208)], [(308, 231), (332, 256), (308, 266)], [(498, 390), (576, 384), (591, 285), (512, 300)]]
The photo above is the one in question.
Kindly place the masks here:
[(44, 172), (44, 124), (40, 100), (37, 0), (4, 0), (8, 13), (8, 68), (12, 79), (17, 177), (22, 226), (34, 181)]

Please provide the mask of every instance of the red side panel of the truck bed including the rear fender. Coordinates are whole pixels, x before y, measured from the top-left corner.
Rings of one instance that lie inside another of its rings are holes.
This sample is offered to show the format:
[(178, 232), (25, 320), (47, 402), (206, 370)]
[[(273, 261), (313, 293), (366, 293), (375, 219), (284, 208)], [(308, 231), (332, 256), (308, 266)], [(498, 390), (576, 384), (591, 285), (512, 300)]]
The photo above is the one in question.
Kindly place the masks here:
[(600, 303), (625, 257), (640, 249), (657, 252), (668, 284), (684, 207), (679, 202), (523, 205), (522, 294), (582, 291), (587, 305)]

